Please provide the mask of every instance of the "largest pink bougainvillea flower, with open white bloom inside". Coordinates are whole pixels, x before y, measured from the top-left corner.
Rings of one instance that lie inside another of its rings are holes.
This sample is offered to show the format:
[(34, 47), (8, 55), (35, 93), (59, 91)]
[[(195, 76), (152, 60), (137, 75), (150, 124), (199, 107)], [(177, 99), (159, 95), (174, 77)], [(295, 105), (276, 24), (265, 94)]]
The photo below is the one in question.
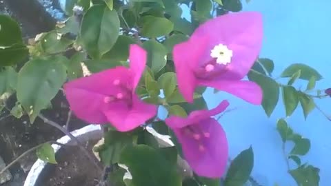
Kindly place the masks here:
[(197, 86), (214, 87), (259, 105), (262, 90), (241, 81), (252, 68), (262, 45), (258, 12), (230, 13), (202, 23), (190, 39), (174, 46), (179, 90), (192, 103)]

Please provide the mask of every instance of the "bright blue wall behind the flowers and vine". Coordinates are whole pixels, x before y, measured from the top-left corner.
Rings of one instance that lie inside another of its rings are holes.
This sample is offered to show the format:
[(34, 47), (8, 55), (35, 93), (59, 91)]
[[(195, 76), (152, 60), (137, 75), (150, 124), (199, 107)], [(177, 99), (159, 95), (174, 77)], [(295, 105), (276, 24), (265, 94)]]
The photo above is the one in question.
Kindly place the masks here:
[[(252, 0), (244, 4), (244, 11), (258, 11), (263, 14), (264, 41), (260, 56), (274, 60), (274, 76), (279, 76), (291, 63), (305, 63), (323, 75), (324, 79), (317, 83), (317, 87), (331, 87), (331, 15), (328, 13), (331, 1)], [(184, 12), (184, 17), (190, 19), (188, 11)], [(299, 81), (295, 85), (305, 88), (306, 82)], [(230, 101), (230, 109), (236, 108), (224, 114), (220, 120), (228, 135), (231, 158), (252, 145), (252, 176), (261, 185), (296, 185), (287, 173), (281, 151), (281, 138), (276, 130), (277, 119), (285, 116), (281, 96), (271, 118), (265, 115), (261, 106), (250, 105), (225, 93), (213, 94), (212, 90), (208, 90), (204, 97), (210, 108), (215, 107), (222, 99)], [(328, 106), (331, 104), (330, 99), (318, 100), (317, 104), (331, 114)], [(303, 163), (308, 161), (321, 169), (321, 186), (331, 185), (331, 122), (318, 110), (314, 110), (305, 121), (299, 106), (288, 118), (288, 123), (294, 132), (311, 141), (310, 152), (302, 158)], [(288, 150), (291, 147), (290, 144)], [(291, 166), (294, 167), (294, 164)]]

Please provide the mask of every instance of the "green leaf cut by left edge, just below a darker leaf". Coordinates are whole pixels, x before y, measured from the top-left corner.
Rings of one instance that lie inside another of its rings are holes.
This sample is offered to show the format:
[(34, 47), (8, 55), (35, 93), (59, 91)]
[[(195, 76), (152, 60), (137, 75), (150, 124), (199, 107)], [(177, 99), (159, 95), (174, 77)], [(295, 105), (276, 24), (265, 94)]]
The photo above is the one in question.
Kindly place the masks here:
[(21, 63), (28, 58), (28, 55), (29, 50), (26, 45), (14, 44), (7, 48), (1, 48), (0, 46), (0, 67)]

